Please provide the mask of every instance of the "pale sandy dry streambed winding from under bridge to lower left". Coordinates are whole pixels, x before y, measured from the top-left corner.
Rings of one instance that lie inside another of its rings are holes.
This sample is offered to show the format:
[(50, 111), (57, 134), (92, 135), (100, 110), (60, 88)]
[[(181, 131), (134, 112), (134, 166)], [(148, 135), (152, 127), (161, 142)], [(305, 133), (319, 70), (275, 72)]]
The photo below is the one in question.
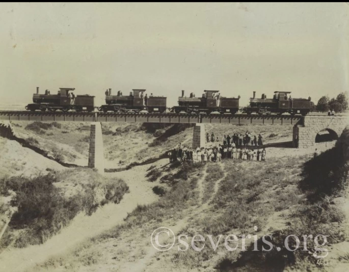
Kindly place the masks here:
[[(168, 160), (160, 160), (156, 164), (166, 164)], [(132, 168), (119, 173), (106, 173), (108, 176), (120, 177), (130, 188), (119, 204), (106, 204), (96, 213), (88, 217), (79, 214), (61, 233), (50, 238), (43, 245), (30, 246), (24, 249), (6, 250), (0, 255), (0, 271), (19, 272), (30, 268), (47, 258), (74, 248), (86, 238), (96, 236), (123, 222), (123, 219), (138, 204), (149, 204), (158, 197), (152, 192), (153, 184), (145, 181), (148, 165)]]

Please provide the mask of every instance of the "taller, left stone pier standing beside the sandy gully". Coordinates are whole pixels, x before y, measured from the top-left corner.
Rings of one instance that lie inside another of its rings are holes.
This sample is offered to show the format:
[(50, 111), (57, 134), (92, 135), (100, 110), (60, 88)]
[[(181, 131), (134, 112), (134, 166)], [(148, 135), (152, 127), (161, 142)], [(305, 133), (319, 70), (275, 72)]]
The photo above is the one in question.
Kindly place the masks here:
[(97, 169), (100, 174), (104, 173), (102, 126), (100, 122), (93, 122), (91, 125), (88, 167)]

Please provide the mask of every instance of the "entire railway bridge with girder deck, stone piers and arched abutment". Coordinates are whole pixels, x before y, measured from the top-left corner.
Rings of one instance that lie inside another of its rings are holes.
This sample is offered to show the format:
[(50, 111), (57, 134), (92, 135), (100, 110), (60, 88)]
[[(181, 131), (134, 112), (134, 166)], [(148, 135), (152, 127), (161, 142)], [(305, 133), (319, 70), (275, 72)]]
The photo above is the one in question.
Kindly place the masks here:
[(318, 132), (327, 130), (340, 136), (349, 125), (349, 116), (290, 116), (256, 114), (178, 114), (178, 113), (78, 113), (78, 112), (28, 112), (0, 111), (0, 121), (38, 122), (91, 122), (89, 167), (104, 172), (104, 155), (101, 123), (166, 123), (196, 124), (193, 130), (193, 147), (205, 146), (205, 124), (271, 124), (293, 125), (293, 147), (306, 148), (314, 145)]

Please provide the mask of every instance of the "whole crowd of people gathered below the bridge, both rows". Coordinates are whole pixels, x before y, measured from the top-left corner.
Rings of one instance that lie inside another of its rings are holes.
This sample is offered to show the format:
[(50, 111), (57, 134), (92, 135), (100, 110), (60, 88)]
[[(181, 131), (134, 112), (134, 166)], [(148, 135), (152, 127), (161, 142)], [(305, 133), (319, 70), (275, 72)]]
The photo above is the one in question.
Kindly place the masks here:
[(191, 148), (186, 145), (178, 144), (169, 153), (170, 163), (173, 162), (221, 162), (225, 159), (232, 160), (248, 160), (248, 161), (265, 161), (266, 150), (261, 148), (263, 138), (259, 134), (252, 137), (250, 132), (245, 135), (233, 134), (224, 135), (223, 144), (219, 143), (219, 137), (215, 137), (214, 133), (206, 134), (206, 142), (217, 142), (214, 147), (197, 147)]

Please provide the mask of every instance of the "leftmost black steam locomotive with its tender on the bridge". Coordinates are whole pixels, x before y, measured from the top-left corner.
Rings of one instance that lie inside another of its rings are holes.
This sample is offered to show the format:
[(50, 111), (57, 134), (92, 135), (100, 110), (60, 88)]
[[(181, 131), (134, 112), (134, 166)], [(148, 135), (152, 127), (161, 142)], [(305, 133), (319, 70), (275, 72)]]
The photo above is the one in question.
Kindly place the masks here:
[(33, 95), (33, 104), (25, 106), (26, 110), (36, 111), (93, 111), (94, 110), (94, 96), (90, 95), (78, 95), (74, 96), (69, 92), (75, 90), (75, 88), (60, 88), (57, 95), (51, 95), (49, 90), (46, 89), (44, 95), (39, 94), (39, 87), (36, 88), (36, 94)]

